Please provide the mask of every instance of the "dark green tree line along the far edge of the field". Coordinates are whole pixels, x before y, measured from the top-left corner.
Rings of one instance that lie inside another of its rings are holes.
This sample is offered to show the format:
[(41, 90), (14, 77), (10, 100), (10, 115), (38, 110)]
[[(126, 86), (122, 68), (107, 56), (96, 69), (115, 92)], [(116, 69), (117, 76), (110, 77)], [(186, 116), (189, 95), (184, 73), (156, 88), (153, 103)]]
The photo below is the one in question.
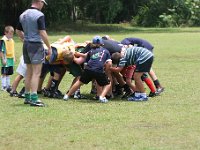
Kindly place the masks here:
[[(0, 26), (16, 26), (31, 0), (0, 0)], [(47, 0), (42, 10), (47, 25), (84, 21), (98, 24), (128, 22), (141, 27), (200, 25), (200, 0)]]

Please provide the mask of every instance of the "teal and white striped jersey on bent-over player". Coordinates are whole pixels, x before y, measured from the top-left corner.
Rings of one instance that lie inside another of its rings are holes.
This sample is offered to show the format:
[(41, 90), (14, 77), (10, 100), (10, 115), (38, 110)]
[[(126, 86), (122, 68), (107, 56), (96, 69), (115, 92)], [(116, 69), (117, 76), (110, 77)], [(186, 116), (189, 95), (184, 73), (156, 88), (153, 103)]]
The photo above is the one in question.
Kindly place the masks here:
[(119, 67), (143, 64), (153, 53), (143, 47), (130, 47), (124, 51), (124, 56), (120, 59)]

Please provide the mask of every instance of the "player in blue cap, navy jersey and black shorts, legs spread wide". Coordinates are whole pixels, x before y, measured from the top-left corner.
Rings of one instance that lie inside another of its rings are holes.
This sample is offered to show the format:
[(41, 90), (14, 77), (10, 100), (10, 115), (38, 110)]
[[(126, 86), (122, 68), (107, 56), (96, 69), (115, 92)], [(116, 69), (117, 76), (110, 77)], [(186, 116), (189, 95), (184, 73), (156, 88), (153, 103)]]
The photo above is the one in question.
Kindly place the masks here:
[(88, 84), (92, 80), (96, 80), (97, 84), (103, 87), (99, 95), (99, 102), (106, 103), (106, 94), (111, 88), (111, 83), (104, 72), (104, 67), (107, 64), (112, 64), (110, 53), (102, 47), (103, 41), (100, 36), (96, 36), (92, 40), (91, 50), (87, 53), (86, 65), (80, 79), (70, 88), (63, 97), (68, 100), (69, 97), (83, 84)]

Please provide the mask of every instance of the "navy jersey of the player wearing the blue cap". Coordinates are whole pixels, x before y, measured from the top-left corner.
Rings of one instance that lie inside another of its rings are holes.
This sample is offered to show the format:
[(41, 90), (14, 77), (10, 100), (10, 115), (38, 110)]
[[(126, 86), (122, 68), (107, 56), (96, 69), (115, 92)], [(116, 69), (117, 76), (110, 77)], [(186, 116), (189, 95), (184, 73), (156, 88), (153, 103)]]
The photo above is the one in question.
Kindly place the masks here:
[(111, 61), (110, 53), (107, 49), (102, 47), (91, 49), (87, 54), (85, 69), (103, 73), (104, 65), (107, 61)]

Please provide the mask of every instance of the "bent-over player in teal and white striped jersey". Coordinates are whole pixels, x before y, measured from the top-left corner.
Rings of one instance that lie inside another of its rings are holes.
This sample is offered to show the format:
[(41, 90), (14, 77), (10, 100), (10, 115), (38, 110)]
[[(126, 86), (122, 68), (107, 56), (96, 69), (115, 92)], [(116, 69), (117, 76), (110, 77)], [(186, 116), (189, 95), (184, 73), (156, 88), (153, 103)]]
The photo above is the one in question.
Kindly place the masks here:
[(149, 72), (153, 63), (153, 53), (142, 47), (122, 48), (121, 53), (114, 53), (112, 60), (119, 62), (118, 67), (111, 67), (111, 71), (120, 72), (125, 66), (136, 65), (134, 80), (136, 92), (128, 98), (129, 101), (146, 101), (148, 97), (142, 82), (142, 75)]

